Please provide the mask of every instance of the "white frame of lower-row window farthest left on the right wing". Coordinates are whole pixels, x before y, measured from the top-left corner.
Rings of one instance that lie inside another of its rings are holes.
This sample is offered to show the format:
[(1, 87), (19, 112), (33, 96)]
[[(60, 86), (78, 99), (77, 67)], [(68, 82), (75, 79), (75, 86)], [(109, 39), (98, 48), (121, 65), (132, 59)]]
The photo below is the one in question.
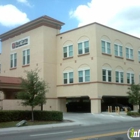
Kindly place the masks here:
[[(72, 73), (72, 81), (73, 82), (70, 82), (70, 73)], [(67, 75), (67, 82), (65, 83), (65, 76), (64, 75)], [(73, 84), (74, 83), (74, 72), (73, 71), (64, 71), (63, 72), (63, 84)]]

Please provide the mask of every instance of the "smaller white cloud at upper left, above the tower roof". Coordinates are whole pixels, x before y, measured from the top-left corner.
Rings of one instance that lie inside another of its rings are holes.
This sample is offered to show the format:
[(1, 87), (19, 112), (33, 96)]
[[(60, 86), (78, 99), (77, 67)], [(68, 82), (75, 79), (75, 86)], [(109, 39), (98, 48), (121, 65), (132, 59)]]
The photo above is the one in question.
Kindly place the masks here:
[(17, 26), (29, 22), (26, 13), (14, 5), (0, 5), (0, 24), (7, 27)]

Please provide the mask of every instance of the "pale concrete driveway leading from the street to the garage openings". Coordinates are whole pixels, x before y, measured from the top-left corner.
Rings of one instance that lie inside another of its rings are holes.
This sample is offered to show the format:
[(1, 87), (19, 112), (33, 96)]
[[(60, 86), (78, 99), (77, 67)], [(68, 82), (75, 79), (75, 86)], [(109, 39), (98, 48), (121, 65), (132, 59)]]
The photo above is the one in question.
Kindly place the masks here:
[(100, 114), (92, 113), (64, 113), (64, 120), (71, 120), (81, 125), (97, 125), (97, 124), (109, 124), (114, 122), (127, 122), (136, 121), (140, 118), (133, 118), (126, 116), (125, 113), (120, 115), (117, 113), (103, 112)]

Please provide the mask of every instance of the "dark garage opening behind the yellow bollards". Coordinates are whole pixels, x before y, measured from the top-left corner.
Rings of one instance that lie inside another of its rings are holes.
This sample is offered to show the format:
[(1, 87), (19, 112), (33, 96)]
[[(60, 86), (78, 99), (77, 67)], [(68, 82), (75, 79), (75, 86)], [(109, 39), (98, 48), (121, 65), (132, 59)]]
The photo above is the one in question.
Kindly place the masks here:
[(112, 111), (115, 111), (115, 107), (120, 107), (121, 111), (125, 108), (133, 110), (133, 105), (128, 102), (126, 96), (103, 96), (101, 101), (101, 111), (108, 111), (108, 106), (112, 106)]

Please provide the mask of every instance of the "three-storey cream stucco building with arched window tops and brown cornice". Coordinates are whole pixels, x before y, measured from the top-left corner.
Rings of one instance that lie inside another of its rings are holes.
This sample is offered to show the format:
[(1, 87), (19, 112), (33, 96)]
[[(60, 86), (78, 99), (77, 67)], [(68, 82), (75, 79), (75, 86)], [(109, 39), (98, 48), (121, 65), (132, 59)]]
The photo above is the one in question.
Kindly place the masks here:
[[(66, 111), (68, 99), (88, 99), (93, 113), (104, 102), (126, 103), (128, 86), (140, 83), (140, 39), (99, 23), (60, 33), (63, 24), (43, 16), (0, 35), (1, 78), (39, 68), (50, 86), (44, 110)], [(12, 102), (1, 85), (2, 101)]]

